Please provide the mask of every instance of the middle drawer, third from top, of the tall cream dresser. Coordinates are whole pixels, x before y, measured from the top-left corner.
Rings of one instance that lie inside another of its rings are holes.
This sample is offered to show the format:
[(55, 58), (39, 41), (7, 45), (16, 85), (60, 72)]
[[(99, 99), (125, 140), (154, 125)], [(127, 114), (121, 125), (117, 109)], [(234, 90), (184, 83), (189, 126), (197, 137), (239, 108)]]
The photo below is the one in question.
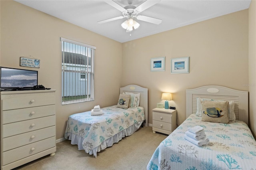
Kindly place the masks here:
[(56, 123), (55, 115), (48, 117), (41, 117), (37, 119), (31, 119), (28, 121), (21, 121), (16, 123), (9, 123), (2, 126), (3, 138), (38, 130), (41, 128), (54, 126)]

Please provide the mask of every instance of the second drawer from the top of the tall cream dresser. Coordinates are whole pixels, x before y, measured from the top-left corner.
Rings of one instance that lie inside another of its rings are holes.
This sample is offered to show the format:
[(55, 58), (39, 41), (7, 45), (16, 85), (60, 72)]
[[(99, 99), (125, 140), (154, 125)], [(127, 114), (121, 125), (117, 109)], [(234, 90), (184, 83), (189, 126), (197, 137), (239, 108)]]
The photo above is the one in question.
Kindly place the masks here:
[(55, 115), (55, 105), (3, 111), (3, 124)]

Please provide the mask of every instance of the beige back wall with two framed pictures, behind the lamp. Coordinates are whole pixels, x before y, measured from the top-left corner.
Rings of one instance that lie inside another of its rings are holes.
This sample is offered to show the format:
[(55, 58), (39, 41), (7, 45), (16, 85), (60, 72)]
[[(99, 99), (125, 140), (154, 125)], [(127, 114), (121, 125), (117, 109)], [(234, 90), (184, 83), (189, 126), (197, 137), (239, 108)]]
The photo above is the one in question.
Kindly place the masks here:
[[(248, 91), (248, 10), (122, 43), (122, 86), (148, 88), (149, 123), (162, 92), (172, 93), (177, 123), (186, 119), (186, 89), (222, 85)], [(166, 71), (150, 72), (150, 58), (166, 57)], [(190, 56), (189, 74), (171, 74), (170, 59)]]

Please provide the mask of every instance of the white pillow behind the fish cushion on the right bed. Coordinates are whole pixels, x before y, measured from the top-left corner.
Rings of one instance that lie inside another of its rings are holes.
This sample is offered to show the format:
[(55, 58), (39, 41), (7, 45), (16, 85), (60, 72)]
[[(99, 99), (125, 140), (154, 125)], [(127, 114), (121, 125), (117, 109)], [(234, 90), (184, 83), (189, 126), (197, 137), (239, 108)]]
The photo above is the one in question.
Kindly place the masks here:
[[(197, 111), (196, 115), (202, 117), (202, 104), (201, 101), (221, 101), (221, 100), (214, 100), (214, 99), (204, 99), (204, 98), (197, 98)], [(229, 101), (228, 105), (228, 119), (230, 122), (235, 122), (236, 121), (236, 115), (234, 112), (235, 109), (235, 103), (234, 101)]]

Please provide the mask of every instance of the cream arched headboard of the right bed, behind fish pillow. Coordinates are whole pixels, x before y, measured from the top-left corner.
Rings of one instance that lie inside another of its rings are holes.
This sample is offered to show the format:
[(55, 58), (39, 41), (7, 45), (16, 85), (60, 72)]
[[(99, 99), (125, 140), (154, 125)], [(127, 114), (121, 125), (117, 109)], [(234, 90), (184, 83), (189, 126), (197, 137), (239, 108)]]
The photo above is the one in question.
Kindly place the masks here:
[(236, 120), (244, 121), (248, 125), (248, 91), (240, 91), (217, 85), (208, 85), (198, 87), (196, 89), (188, 89), (186, 90), (186, 118), (190, 114), (196, 113), (197, 97), (234, 101)]

